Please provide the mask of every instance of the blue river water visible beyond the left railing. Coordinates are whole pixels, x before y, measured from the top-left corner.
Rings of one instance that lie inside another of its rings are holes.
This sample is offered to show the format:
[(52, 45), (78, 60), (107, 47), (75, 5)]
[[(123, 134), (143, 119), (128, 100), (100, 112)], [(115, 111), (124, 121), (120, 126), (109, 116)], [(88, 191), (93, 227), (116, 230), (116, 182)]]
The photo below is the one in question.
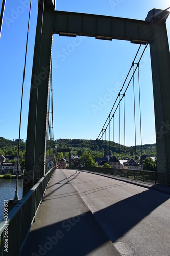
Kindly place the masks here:
[[(23, 179), (18, 180), (18, 196), (22, 198)], [(4, 200), (14, 198), (16, 179), (0, 179), (0, 220), (4, 218)]]

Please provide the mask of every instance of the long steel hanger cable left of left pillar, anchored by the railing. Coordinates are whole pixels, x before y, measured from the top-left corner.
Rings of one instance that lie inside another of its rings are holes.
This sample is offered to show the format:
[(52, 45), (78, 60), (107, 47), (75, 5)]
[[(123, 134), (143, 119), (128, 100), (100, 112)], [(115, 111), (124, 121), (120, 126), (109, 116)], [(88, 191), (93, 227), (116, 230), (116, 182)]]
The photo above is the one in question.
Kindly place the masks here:
[(15, 191), (15, 196), (14, 196), (14, 199), (15, 199), (15, 200), (19, 199), (19, 197), (18, 197), (18, 174), (19, 174), (20, 131), (21, 131), (22, 103), (23, 103), (23, 89), (24, 89), (25, 71), (26, 71), (26, 59), (27, 59), (28, 35), (29, 35), (29, 27), (30, 27), (31, 4), (32, 4), (32, 0), (30, 1), (29, 18), (28, 18), (28, 27), (27, 27), (27, 39), (26, 39), (25, 61), (24, 61), (24, 67), (23, 67), (22, 94), (21, 94), (20, 121), (19, 121), (19, 140), (18, 140), (17, 177), (16, 177), (16, 191)]

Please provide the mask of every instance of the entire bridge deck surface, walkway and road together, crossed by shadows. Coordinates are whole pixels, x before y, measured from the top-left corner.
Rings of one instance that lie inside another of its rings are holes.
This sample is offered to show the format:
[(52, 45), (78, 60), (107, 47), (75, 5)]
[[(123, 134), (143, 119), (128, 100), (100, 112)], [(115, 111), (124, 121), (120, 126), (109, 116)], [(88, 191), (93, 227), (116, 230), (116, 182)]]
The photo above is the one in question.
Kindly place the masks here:
[(56, 170), (21, 255), (169, 256), (170, 187), (124, 181)]

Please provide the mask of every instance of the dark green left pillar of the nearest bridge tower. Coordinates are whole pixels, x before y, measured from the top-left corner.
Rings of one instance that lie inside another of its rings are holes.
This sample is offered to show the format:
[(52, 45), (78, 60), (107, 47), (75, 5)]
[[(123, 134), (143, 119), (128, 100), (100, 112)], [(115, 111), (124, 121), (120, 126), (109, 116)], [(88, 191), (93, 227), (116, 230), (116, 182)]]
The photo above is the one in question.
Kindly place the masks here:
[(43, 1), (39, 1), (30, 90), (23, 196), (45, 174), (54, 10), (53, 2), (45, 1), (43, 12)]

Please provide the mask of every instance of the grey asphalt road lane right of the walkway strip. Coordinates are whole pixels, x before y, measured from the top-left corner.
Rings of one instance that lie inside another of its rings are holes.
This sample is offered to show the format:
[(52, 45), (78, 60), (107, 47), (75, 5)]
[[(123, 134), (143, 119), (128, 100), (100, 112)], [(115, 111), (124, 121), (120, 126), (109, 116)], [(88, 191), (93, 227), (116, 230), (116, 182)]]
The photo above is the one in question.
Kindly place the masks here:
[(78, 170), (62, 170), (122, 255), (170, 255), (170, 196)]

